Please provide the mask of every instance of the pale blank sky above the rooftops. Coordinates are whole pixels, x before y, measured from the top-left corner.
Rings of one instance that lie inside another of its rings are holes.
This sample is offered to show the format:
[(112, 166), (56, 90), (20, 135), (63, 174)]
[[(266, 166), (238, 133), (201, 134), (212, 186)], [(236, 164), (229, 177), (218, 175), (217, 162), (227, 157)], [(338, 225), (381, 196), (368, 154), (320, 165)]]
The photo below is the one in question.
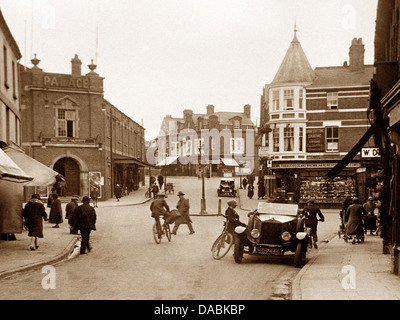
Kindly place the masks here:
[(164, 116), (183, 110), (243, 112), (259, 124), (263, 87), (282, 62), (297, 27), (313, 68), (348, 61), (353, 38), (373, 64), (377, 0), (0, 0), (31, 67), (82, 74), (91, 59), (104, 97), (154, 139)]

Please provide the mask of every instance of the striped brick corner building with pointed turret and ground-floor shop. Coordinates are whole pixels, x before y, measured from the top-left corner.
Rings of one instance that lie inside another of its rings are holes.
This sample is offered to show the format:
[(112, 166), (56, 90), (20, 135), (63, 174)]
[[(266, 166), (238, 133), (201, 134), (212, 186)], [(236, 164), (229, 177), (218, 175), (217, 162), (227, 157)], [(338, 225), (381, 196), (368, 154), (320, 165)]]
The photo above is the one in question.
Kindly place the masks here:
[(347, 195), (363, 201), (373, 192), (378, 155), (372, 140), (340, 176), (327, 177), (370, 127), (373, 65), (364, 64), (364, 51), (362, 39), (353, 39), (349, 63), (313, 69), (295, 29), (261, 97), (260, 176), (268, 196), (300, 203), (314, 198), (321, 206), (337, 207)]

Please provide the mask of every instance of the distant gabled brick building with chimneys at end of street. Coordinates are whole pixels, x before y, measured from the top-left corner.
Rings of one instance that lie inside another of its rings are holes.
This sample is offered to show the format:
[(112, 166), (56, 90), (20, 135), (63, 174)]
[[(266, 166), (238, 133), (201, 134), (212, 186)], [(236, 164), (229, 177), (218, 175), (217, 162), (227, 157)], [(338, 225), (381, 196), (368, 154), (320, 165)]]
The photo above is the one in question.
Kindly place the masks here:
[(250, 105), (243, 112), (216, 112), (213, 105), (205, 114), (186, 109), (182, 118), (164, 117), (156, 163), (168, 175), (253, 174), (254, 134)]

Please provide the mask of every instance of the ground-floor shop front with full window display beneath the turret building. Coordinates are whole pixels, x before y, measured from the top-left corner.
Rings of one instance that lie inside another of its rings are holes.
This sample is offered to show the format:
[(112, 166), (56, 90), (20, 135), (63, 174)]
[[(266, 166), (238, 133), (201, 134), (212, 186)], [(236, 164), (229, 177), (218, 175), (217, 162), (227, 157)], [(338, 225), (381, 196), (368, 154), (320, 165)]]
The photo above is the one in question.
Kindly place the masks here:
[(313, 199), (321, 208), (340, 209), (346, 196), (365, 201), (376, 187), (377, 167), (369, 162), (351, 162), (333, 178), (327, 173), (336, 162), (273, 162), (270, 167), (273, 179), (272, 197), (293, 198), (304, 207)]

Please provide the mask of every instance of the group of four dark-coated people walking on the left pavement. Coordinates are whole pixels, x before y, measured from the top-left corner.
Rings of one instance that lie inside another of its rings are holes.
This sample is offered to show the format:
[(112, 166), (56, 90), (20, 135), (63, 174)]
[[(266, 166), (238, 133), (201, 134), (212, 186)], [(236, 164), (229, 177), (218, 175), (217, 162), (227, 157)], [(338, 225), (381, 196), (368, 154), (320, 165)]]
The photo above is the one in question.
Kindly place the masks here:
[[(54, 190), (53, 190), (54, 191)], [(81, 234), (80, 253), (85, 254), (86, 249), (91, 250), (89, 244), (90, 233), (96, 230), (96, 211), (90, 205), (90, 198), (84, 196), (82, 204), (78, 205), (79, 196), (73, 196), (66, 206), (66, 216), (70, 226), (70, 234)], [(52, 193), (48, 198), (47, 206), (50, 207), (48, 221), (54, 223), (56, 228), (63, 222), (61, 201), (57, 193)], [(22, 211), (25, 224), (28, 228), (28, 236), (31, 237), (30, 250), (39, 248), (38, 238), (43, 238), (43, 220), (47, 221), (47, 213), (39, 194), (33, 194), (31, 200)], [(53, 228), (54, 228), (53, 227)]]

